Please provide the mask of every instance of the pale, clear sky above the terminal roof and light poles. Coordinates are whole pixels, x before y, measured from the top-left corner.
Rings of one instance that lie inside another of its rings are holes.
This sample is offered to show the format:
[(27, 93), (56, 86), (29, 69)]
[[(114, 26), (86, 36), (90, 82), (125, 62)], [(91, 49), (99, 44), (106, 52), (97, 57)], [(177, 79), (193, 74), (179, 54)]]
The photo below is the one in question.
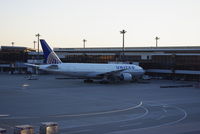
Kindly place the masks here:
[(200, 0), (0, 0), (0, 45), (52, 47), (200, 45)]

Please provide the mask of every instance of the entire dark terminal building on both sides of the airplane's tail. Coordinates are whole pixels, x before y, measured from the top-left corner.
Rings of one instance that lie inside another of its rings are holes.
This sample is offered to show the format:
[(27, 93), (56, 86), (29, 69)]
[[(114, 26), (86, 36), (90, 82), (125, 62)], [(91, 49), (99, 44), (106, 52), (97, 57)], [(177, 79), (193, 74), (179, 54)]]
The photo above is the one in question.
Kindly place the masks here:
[[(137, 64), (157, 78), (199, 80), (200, 47), (54, 48), (67, 63)], [(26, 47), (2, 46), (0, 72), (30, 71), (23, 63), (43, 64), (43, 53)]]

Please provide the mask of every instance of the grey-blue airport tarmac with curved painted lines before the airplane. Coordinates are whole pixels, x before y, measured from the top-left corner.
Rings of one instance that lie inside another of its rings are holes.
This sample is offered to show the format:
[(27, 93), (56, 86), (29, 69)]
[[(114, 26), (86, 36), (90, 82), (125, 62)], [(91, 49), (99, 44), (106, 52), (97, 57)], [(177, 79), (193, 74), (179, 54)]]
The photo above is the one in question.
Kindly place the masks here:
[(200, 88), (187, 86), (194, 82), (56, 77), (0, 74), (0, 128), (13, 134), (28, 124), (38, 133), (41, 122), (57, 122), (61, 134), (200, 134)]

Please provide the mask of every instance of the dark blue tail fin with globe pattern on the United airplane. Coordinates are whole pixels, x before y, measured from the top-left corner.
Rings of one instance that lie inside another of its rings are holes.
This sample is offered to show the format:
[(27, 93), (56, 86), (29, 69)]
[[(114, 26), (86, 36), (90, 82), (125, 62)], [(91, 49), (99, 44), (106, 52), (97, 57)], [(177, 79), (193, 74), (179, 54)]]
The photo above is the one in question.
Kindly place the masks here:
[(51, 49), (47, 42), (43, 39), (40, 40), (42, 50), (44, 53), (45, 63), (47, 64), (60, 64), (62, 61), (58, 58), (56, 53)]

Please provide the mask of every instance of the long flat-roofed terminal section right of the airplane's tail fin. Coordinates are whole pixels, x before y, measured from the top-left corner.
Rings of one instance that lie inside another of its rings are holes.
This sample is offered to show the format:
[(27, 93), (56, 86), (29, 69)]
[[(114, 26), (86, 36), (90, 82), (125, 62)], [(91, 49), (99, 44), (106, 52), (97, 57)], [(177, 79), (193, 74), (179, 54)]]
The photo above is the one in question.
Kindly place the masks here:
[(138, 64), (154, 77), (198, 80), (200, 47), (54, 48), (63, 62)]

